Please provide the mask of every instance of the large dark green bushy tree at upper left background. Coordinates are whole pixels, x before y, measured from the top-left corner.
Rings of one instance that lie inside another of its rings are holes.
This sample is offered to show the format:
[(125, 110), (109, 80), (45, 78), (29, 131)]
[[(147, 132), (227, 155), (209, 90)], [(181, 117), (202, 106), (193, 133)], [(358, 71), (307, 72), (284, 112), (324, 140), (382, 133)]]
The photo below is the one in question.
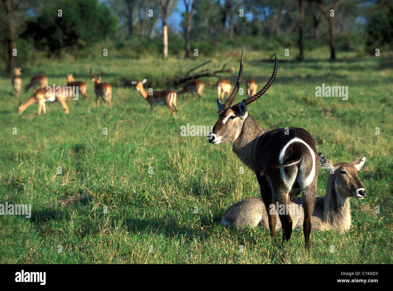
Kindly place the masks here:
[(81, 48), (105, 39), (117, 29), (118, 18), (105, 3), (59, 0), (48, 3), (38, 17), (31, 17), (21, 37), (31, 38), (36, 48), (51, 55), (64, 48)]

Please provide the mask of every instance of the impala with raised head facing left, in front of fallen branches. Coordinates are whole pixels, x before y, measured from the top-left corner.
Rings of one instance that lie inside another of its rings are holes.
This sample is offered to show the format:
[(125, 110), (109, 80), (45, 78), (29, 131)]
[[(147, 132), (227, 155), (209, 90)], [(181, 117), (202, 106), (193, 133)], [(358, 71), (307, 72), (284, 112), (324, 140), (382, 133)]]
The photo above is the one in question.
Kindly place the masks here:
[(147, 79), (143, 79), (141, 82), (132, 81), (132, 85), (135, 85), (135, 88), (142, 97), (149, 102), (151, 106), (151, 112), (153, 113), (154, 107), (156, 105), (167, 105), (169, 110), (172, 114), (178, 114), (176, 101), (177, 101), (177, 94), (176, 91), (167, 89), (161, 91), (151, 91), (149, 94), (143, 88), (143, 84), (145, 84)]

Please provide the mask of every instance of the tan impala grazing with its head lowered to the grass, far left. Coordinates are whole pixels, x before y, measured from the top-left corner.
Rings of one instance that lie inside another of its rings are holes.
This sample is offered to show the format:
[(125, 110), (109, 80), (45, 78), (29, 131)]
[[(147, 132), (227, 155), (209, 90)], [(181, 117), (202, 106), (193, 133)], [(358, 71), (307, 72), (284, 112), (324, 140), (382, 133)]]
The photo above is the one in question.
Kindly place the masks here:
[(22, 114), (22, 112), (25, 111), (25, 109), (31, 104), (38, 102), (38, 115), (41, 115), (41, 110), (44, 111), (44, 114), (46, 114), (45, 103), (48, 101), (53, 102), (57, 100), (64, 108), (64, 113), (68, 114), (69, 109), (66, 104), (66, 98), (67, 94), (65, 90), (62, 90), (61, 92), (56, 92), (56, 90), (52, 90), (52, 87), (39, 89), (25, 103), (22, 104), (22, 101), (20, 101), (17, 112)]

